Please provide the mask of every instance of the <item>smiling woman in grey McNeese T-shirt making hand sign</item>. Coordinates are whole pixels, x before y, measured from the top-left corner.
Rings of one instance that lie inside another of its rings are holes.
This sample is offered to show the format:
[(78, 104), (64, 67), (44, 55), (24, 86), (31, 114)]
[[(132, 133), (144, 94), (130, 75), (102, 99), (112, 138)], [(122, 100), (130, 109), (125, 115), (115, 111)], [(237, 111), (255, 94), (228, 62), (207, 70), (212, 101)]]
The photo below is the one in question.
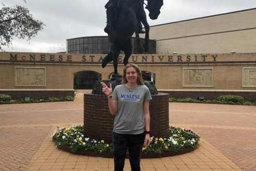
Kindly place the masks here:
[(150, 144), (149, 89), (142, 81), (138, 66), (129, 63), (124, 67), (123, 84), (108, 87), (101, 82), (103, 93), (108, 96), (108, 107), (114, 118), (113, 155), (114, 170), (123, 170), (126, 150), (129, 150), (133, 171), (140, 170), (142, 147)]

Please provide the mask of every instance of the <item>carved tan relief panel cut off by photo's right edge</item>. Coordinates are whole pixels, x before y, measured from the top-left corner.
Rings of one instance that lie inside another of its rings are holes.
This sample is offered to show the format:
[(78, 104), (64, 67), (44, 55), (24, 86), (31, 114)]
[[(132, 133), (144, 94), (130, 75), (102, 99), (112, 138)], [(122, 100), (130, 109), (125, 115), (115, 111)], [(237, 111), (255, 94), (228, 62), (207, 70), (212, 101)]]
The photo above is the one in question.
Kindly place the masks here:
[(242, 68), (242, 87), (256, 87), (256, 68)]

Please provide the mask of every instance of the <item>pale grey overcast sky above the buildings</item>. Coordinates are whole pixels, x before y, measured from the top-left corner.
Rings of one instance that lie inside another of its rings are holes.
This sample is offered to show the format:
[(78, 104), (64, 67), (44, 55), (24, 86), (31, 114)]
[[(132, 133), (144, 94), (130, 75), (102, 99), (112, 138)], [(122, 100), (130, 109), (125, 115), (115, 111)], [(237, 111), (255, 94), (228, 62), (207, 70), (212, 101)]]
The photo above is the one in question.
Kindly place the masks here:
[[(107, 35), (107, 0), (0, 0), (6, 6), (21, 5), (28, 8), (35, 19), (45, 23), (44, 30), (25, 40), (12, 41), (6, 51), (59, 52), (66, 51), (68, 38)], [(255, 0), (163, 0), (157, 20), (148, 17), (150, 25), (223, 14), (256, 7)], [(0, 5), (2, 7), (2, 5)], [(147, 10), (146, 10), (147, 12)], [(255, 17), (255, 16), (252, 16)]]

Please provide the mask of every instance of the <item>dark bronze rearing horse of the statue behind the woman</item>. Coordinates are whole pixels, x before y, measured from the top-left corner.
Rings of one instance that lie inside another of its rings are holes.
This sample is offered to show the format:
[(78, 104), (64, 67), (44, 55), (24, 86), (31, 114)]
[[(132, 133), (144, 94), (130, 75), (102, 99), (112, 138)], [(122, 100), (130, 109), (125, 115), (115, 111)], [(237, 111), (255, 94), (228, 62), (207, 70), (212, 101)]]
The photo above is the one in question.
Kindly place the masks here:
[[(111, 51), (103, 59), (102, 67), (105, 68), (107, 63), (113, 61), (114, 74), (118, 74), (118, 56), (120, 50), (124, 51), (123, 64), (126, 65), (130, 56), (132, 55), (132, 43), (131, 37), (135, 32), (137, 50), (139, 53), (148, 51), (148, 40), (149, 40), (149, 24), (147, 22), (147, 16), (145, 11), (141, 11), (139, 5), (141, 0), (121, 0), (120, 9), (116, 20), (113, 21), (112, 31), (108, 34), (109, 41), (111, 43)], [(149, 11), (149, 17), (152, 20), (158, 18), (160, 14), (160, 8), (163, 5), (163, 0), (145, 0), (147, 1), (146, 9)], [(143, 23), (145, 27), (145, 44), (139, 38), (139, 22), (137, 18)]]

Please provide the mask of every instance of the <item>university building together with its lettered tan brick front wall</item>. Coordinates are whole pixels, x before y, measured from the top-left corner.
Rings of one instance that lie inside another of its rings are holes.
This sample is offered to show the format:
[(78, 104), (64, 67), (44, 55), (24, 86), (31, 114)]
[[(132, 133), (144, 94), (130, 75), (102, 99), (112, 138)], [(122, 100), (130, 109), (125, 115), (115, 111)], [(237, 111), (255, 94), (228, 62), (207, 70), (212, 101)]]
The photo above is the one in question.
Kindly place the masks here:
[[(256, 100), (256, 8), (150, 27), (150, 52), (129, 62), (170, 97), (240, 95)], [(136, 45), (134, 38), (133, 45)], [(67, 40), (66, 54), (0, 52), (0, 94), (13, 98), (74, 96), (113, 73), (101, 68), (106, 36)], [(122, 74), (124, 55), (119, 56)]]

